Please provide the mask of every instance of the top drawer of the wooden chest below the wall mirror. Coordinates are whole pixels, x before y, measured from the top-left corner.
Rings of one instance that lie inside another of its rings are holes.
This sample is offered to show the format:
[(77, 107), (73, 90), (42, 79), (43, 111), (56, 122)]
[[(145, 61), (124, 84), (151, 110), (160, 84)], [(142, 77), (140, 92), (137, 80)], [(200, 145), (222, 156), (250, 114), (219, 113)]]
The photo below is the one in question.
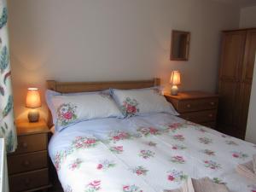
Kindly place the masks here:
[(218, 106), (218, 98), (184, 100), (179, 102), (177, 111), (179, 113), (214, 109)]

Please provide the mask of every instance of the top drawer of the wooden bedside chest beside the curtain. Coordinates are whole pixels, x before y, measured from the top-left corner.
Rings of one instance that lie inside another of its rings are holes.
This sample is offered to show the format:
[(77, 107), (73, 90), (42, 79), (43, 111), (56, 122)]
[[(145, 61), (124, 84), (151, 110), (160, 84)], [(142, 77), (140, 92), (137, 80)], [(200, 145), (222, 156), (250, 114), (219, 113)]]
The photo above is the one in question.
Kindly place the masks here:
[(18, 137), (18, 148), (15, 154), (41, 151), (47, 149), (47, 135), (35, 134)]

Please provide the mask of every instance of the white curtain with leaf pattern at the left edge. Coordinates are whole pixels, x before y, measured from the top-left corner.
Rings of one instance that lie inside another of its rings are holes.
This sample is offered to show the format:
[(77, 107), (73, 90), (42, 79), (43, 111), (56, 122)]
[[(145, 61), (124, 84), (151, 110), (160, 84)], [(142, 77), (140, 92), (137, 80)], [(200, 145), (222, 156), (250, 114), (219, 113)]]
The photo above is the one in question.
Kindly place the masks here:
[(10, 79), (8, 11), (6, 0), (0, 0), (0, 137), (5, 140), (6, 151), (17, 146), (14, 123), (14, 104)]

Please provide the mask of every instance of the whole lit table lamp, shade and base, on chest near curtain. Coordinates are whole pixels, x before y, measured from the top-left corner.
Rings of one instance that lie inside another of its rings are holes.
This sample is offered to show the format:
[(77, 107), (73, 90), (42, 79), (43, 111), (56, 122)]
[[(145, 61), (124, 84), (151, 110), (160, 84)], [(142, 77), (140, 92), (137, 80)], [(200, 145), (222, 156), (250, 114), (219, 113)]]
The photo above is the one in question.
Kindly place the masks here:
[(39, 112), (41, 107), (41, 100), (38, 88), (28, 88), (26, 93), (26, 108), (31, 108), (28, 112), (27, 118), (29, 122), (38, 122)]

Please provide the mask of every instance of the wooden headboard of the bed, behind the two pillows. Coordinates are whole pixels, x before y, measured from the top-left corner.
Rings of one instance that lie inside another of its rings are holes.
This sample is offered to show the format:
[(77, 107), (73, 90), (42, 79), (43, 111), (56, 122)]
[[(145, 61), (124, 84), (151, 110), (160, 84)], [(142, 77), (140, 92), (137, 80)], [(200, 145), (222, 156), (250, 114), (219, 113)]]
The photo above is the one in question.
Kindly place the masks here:
[[(57, 82), (55, 80), (47, 81), (47, 89), (55, 90), (60, 93), (90, 92), (98, 90), (114, 89), (140, 89), (160, 85), (160, 79), (135, 80), (135, 81), (103, 81), (103, 82)], [(48, 115), (49, 127), (53, 125), (52, 116)]]

